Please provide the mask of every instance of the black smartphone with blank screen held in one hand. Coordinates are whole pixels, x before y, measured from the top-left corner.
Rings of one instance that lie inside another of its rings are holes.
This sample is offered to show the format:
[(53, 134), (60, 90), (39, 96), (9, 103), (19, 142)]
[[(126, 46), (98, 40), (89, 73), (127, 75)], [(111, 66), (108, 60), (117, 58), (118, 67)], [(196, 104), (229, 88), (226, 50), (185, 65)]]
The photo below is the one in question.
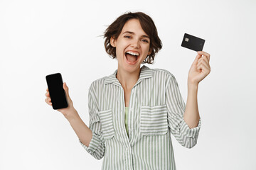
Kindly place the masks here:
[(53, 109), (67, 108), (68, 101), (63, 89), (63, 79), (60, 73), (46, 76), (46, 82), (50, 93), (50, 99), (53, 103)]

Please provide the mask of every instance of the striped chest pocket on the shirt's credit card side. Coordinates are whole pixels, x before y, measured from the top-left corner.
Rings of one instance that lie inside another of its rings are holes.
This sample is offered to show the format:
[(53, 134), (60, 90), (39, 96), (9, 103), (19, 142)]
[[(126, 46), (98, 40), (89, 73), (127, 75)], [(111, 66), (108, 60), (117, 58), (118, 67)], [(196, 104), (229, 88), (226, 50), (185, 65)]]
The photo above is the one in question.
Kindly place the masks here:
[(168, 132), (166, 105), (142, 106), (140, 116), (142, 135), (165, 135)]

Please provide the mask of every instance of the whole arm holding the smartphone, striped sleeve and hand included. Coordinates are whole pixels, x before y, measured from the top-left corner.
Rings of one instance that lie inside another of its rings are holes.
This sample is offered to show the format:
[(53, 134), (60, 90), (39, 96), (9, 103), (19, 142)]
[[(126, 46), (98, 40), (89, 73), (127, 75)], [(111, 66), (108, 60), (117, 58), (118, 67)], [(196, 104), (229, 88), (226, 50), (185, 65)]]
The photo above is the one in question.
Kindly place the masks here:
[[(89, 128), (87, 125), (85, 125), (78, 112), (73, 107), (73, 101), (69, 96), (68, 86), (66, 83), (63, 84), (63, 89), (65, 90), (65, 94), (67, 96), (68, 108), (60, 108), (57, 111), (63, 113), (65, 118), (67, 118), (76, 135), (78, 135), (82, 147), (84, 147), (87, 152), (89, 152), (96, 159), (101, 159), (105, 153), (105, 142), (101, 135), (101, 123), (99, 117), (97, 116), (99, 109), (97, 107), (97, 100), (95, 100), (95, 97), (92, 95), (92, 86), (90, 86), (89, 89), (88, 101), (90, 115)], [(46, 89), (46, 91), (46, 103), (51, 106), (52, 103), (50, 94), (48, 89)]]

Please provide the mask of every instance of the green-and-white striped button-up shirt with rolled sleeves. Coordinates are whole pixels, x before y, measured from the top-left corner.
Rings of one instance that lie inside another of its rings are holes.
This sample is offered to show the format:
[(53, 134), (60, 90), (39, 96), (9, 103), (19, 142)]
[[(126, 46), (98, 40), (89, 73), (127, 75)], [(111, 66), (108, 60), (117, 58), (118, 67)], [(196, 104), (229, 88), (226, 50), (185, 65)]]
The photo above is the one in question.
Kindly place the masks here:
[[(201, 128), (189, 128), (183, 120), (186, 105), (173, 74), (165, 69), (141, 68), (129, 99), (128, 132), (124, 125), (124, 90), (116, 78), (93, 81), (88, 93), (88, 153), (102, 159), (102, 169), (176, 169), (171, 134), (183, 146), (196, 145)], [(128, 137), (129, 136), (129, 137)]]

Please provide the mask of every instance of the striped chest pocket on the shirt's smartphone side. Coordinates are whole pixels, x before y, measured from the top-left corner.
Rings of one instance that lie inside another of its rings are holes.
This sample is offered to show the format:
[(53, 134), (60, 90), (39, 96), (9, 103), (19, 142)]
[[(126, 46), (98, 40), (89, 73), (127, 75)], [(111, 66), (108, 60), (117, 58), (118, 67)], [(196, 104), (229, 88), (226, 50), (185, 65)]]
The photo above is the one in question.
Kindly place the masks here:
[(100, 111), (99, 116), (104, 140), (110, 140), (112, 137), (114, 137), (112, 110), (109, 109), (107, 111)]

